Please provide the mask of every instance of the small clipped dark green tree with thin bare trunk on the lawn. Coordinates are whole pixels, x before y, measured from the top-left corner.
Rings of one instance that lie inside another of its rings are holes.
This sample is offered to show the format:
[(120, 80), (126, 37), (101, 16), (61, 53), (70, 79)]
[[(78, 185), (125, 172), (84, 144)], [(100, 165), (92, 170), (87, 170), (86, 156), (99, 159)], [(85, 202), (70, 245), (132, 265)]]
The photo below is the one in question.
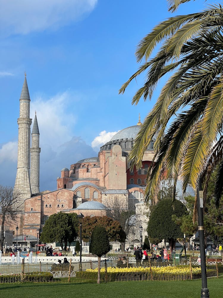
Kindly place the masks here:
[(98, 256), (98, 280), (100, 283), (100, 263), (101, 256), (110, 251), (109, 235), (103, 226), (96, 226), (91, 235), (89, 252)]

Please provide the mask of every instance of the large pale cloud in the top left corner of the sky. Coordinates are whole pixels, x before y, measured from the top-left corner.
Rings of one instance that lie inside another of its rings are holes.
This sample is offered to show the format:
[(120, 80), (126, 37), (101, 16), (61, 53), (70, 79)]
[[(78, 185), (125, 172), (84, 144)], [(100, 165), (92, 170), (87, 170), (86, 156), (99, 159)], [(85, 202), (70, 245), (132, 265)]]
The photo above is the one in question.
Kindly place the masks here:
[(58, 28), (90, 13), (98, 0), (0, 0), (0, 30), (27, 34)]

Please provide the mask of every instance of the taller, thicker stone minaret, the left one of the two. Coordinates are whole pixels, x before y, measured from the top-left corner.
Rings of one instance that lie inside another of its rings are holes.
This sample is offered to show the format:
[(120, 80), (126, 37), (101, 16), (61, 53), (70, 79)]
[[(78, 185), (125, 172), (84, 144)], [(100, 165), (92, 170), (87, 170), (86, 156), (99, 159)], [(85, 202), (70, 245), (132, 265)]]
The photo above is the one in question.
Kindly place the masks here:
[(22, 191), (22, 197), (31, 197), (30, 187), (30, 125), (32, 119), (29, 118), (30, 97), (25, 80), (20, 96), (19, 118), (18, 118), (18, 162), (15, 188)]

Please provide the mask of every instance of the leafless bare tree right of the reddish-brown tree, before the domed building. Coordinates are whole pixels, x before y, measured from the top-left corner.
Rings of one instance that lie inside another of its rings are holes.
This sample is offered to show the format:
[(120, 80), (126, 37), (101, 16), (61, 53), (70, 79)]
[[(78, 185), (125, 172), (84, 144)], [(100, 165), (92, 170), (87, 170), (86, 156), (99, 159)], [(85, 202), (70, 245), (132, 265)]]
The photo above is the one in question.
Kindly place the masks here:
[[(132, 200), (120, 199), (115, 195), (112, 198), (107, 199), (104, 203), (106, 206), (107, 215), (116, 221), (120, 222), (126, 235), (130, 233), (130, 230), (137, 226), (140, 221), (140, 216), (136, 215), (135, 205)], [(121, 242), (122, 251), (125, 250), (125, 242)]]

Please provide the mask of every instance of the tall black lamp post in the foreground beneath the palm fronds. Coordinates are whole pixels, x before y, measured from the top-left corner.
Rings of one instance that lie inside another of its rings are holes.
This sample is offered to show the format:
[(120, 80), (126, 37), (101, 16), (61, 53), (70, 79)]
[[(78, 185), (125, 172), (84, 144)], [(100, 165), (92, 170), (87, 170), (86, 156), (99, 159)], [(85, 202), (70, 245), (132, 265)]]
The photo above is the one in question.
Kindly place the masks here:
[(205, 239), (204, 239), (204, 215), (203, 215), (203, 191), (201, 190), (201, 179), (198, 180), (197, 187), (197, 215), (198, 215), (198, 232), (200, 238), (200, 258), (201, 258), (201, 298), (209, 298), (207, 283), (207, 271), (205, 262)]

